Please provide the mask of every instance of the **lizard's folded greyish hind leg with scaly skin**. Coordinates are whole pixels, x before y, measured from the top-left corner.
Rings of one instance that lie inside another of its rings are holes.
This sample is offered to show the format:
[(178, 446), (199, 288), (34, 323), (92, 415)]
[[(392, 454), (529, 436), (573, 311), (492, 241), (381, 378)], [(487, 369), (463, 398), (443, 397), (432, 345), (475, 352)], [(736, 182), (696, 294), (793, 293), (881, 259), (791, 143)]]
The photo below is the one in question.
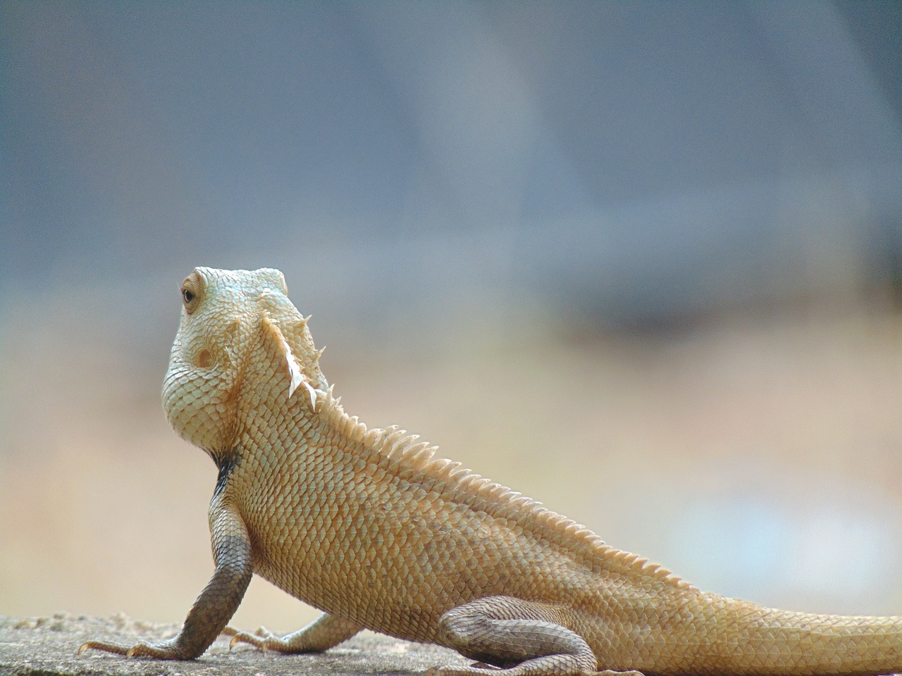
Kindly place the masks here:
[(562, 624), (565, 611), (521, 598), (478, 598), (438, 620), (439, 643), (465, 657), (502, 667), (433, 667), (428, 676), (577, 676), (595, 673), (594, 653)]

